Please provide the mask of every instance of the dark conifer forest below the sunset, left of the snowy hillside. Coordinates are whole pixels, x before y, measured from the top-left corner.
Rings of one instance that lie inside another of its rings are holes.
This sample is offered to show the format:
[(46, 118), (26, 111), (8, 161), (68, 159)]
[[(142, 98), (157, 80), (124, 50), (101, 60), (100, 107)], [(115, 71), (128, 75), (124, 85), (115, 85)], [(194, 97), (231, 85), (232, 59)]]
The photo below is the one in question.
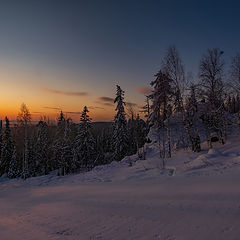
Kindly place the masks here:
[[(6, 117), (0, 122), (0, 176), (40, 176), (57, 170), (58, 175), (87, 171), (94, 166), (120, 161), (143, 147), (147, 125), (132, 112), (127, 120), (124, 91), (117, 86), (116, 116), (113, 123), (92, 123), (85, 106), (79, 123), (61, 111), (56, 125), (31, 121), (22, 104), (15, 124)], [(104, 126), (104, 127), (103, 127)]]

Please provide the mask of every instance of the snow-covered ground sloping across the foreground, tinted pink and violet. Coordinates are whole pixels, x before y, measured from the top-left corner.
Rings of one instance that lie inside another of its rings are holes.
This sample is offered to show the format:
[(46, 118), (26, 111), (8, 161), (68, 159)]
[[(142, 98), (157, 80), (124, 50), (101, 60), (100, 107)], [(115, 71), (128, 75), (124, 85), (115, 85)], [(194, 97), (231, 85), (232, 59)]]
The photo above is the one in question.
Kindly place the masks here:
[(240, 140), (161, 162), (100, 166), (85, 174), (0, 180), (0, 239), (240, 239)]

